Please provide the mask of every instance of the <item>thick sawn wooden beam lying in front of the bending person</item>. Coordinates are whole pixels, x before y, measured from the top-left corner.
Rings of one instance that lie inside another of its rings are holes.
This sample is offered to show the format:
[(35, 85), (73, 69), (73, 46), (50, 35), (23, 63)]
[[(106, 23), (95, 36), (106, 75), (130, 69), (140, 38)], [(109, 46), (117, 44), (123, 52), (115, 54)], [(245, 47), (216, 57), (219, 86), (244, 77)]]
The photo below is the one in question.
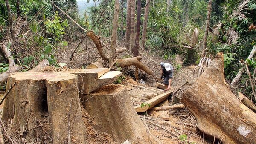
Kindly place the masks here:
[[(168, 91), (168, 92), (164, 92), (163, 94), (160, 94), (148, 101), (145, 101), (144, 103), (146, 104), (144, 107), (140, 107), (141, 104), (137, 105), (136, 107), (134, 107), (135, 111), (136, 112), (145, 112), (147, 111), (148, 109), (151, 109), (152, 107), (154, 107), (155, 105), (159, 104), (160, 102), (164, 101), (166, 98), (169, 97), (169, 95), (171, 95), (173, 92), (172, 91)], [(148, 104), (150, 106), (148, 106)]]

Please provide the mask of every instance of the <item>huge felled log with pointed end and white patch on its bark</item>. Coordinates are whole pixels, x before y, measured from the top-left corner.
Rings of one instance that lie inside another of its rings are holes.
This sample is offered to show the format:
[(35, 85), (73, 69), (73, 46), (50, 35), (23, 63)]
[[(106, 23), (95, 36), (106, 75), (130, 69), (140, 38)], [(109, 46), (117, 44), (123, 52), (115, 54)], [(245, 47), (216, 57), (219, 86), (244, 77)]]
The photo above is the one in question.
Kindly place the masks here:
[(216, 55), (206, 71), (187, 87), (181, 102), (195, 116), (204, 135), (225, 144), (254, 144), (256, 114), (225, 83), (223, 57), (222, 53)]

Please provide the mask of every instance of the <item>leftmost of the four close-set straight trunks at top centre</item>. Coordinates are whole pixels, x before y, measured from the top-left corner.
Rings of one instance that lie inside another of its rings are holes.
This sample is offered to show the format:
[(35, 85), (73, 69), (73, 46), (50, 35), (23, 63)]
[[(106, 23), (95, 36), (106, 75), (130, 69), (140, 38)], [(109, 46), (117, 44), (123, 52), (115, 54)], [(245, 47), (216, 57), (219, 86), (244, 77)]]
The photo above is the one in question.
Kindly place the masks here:
[(125, 47), (130, 49), (130, 35), (131, 35), (131, 0), (127, 0), (126, 12), (126, 31), (125, 31)]

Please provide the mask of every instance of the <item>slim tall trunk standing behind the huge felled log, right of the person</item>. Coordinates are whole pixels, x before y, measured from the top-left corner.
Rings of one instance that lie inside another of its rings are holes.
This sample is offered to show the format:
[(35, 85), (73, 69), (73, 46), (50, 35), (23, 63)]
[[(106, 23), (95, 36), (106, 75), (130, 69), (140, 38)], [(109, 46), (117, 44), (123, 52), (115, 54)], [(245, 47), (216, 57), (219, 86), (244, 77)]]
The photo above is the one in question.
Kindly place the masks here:
[(208, 11), (207, 11), (207, 18), (206, 18), (206, 23), (205, 23), (205, 31), (204, 31), (203, 48), (202, 48), (203, 52), (201, 54), (201, 58), (203, 58), (204, 55), (205, 55), (205, 49), (206, 49), (206, 45), (207, 45), (207, 37), (208, 37), (208, 31), (209, 31), (211, 12), (212, 12), (212, 0), (209, 0), (209, 2), (208, 2)]

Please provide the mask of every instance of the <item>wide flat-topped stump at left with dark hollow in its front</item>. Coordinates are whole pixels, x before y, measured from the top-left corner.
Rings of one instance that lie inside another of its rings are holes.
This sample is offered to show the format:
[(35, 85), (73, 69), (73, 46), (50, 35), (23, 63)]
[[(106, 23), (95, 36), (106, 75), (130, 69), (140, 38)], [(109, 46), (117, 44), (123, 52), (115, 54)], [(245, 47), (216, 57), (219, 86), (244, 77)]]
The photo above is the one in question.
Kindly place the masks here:
[(53, 134), (54, 144), (66, 143), (68, 135), (72, 141), (86, 142), (76, 75), (16, 72), (9, 76), (6, 91), (15, 83), (5, 99), (2, 118), (4, 121), (13, 118), (13, 127), (26, 132), (28, 141), (36, 138), (38, 129), (33, 129), (34, 122), (46, 121), (42, 115), (49, 113), (48, 122), (52, 123), (49, 133)]

